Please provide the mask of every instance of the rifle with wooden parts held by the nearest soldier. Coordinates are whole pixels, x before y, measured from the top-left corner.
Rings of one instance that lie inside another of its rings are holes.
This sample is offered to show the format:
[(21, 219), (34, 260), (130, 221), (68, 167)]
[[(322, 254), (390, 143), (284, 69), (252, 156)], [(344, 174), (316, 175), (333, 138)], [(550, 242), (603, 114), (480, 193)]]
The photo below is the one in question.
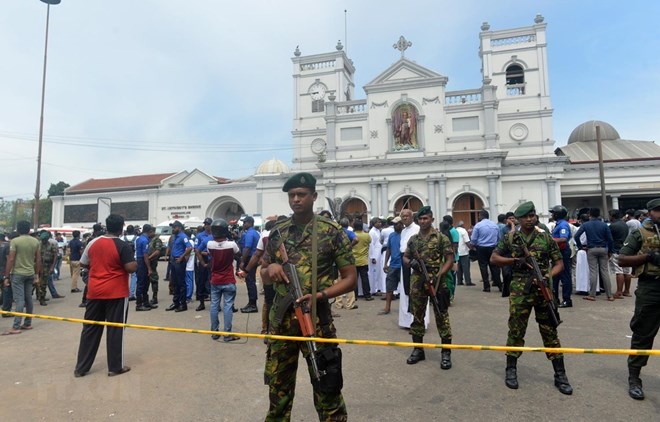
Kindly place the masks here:
[[(300, 325), (300, 331), (302, 332), (303, 337), (314, 337), (316, 334), (314, 332), (314, 324), (312, 323), (311, 309), (308, 302), (297, 302), (297, 300), (303, 297), (302, 287), (300, 285), (300, 278), (298, 277), (298, 271), (296, 266), (289, 262), (289, 259), (284, 249), (284, 244), (280, 247), (280, 252), (284, 264), (282, 268), (286, 273), (286, 277), (289, 279), (289, 295), (293, 299), (293, 310), (296, 313), (296, 319), (298, 320), (298, 325)], [(309, 350), (309, 362), (312, 365), (312, 376), (318, 382), (321, 381), (321, 377), (325, 375), (326, 371), (319, 369), (317, 362), (318, 349), (316, 343), (312, 340), (305, 342), (307, 344), (307, 349)]]

